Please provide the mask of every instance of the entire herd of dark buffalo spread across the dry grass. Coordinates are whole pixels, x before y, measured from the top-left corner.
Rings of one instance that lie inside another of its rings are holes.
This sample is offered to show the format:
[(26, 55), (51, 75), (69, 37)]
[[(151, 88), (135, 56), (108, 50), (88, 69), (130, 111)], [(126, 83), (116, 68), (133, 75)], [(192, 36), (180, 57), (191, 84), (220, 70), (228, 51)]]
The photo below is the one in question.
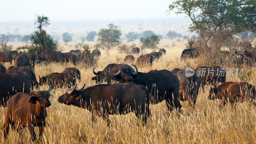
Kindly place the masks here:
[[(133, 53), (139, 53), (139, 48), (133, 48)], [(159, 52), (152, 52), (138, 57), (136, 65), (152, 65), (154, 59), (161, 58), (166, 50), (160, 49)], [(100, 54), (100, 52), (97, 52)], [(108, 115), (127, 114), (130, 111), (141, 119), (142, 124), (146, 124), (149, 116), (149, 104), (157, 104), (165, 100), (169, 113), (176, 108), (180, 113), (180, 100), (188, 100), (193, 107), (196, 104), (199, 88), (204, 85), (211, 87), (209, 100), (221, 99), (220, 108), (227, 102), (232, 105), (235, 102), (249, 100), (255, 104), (255, 87), (246, 82), (226, 82), (226, 72), (219, 66), (199, 67), (191, 76), (186, 76), (185, 69), (175, 68), (172, 71), (151, 70), (149, 72), (139, 72), (135, 65), (135, 70), (127, 64), (108, 64), (102, 71), (93, 69), (92, 80), (97, 85), (86, 88), (76, 89), (76, 80), (81, 80), (81, 73), (77, 68), (65, 68), (62, 73), (52, 73), (47, 76), (39, 76), (39, 83), (36, 80), (34, 66), (37, 61), (77, 63), (77, 58), (83, 59), (86, 52), (72, 50), (71, 52), (61, 53), (47, 51), (42, 55), (36, 56), (33, 53), (20, 52), (0, 53), (1, 62), (10, 62), (14, 59), (15, 66), (7, 70), (0, 63), (0, 102), (6, 107), (4, 121), (4, 139), (7, 138), (10, 126), (17, 126), (17, 131), (22, 132), (24, 127), (28, 127), (32, 135), (32, 140), (36, 139), (34, 127), (39, 127), (39, 137), (41, 138), (47, 116), (46, 108), (51, 106), (49, 100), (51, 89), (67, 86), (68, 89), (58, 98), (58, 102), (67, 105), (86, 108), (92, 113), (92, 122), (96, 121), (97, 116), (106, 120), (110, 126)], [(66, 57), (67, 56), (67, 57)], [(68, 59), (68, 60), (67, 60)], [(134, 61), (132, 55), (128, 55), (125, 61)], [(200, 74), (200, 69), (204, 69), (208, 75)], [(224, 73), (220, 75), (218, 70)], [(211, 71), (211, 73), (209, 73)], [(212, 72), (213, 71), (213, 72)], [(118, 84), (111, 84), (111, 81)], [(107, 84), (101, 84), (106, 82)], [(219, 86), (218, 84), (221, 83)], [(46, 91), (34, 91), (33, 87), (47, 84), (49, 89)], [(71, 88), (74, 86), (73, 88)]]

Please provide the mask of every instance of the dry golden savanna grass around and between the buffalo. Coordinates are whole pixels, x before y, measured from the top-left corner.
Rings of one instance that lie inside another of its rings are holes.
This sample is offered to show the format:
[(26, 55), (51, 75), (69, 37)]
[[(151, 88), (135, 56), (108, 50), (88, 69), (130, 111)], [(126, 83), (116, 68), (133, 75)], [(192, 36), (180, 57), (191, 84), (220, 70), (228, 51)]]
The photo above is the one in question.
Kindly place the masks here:
[[(137, 45), (138, 41), (135, 42)], [(161, 40), (158, 47), (165, 48), (167, 53), (162, 59), (153, 62), (152, 67), (139, 67), (141, 72), (151, 69), (197, 68), (201, 66), (197, 60), (180, 60), (180, 54), (185, 48), (185, 41), (177, 42)], [(10, 43), (11, 44), (11, 43)], [(75, 44), (75, 43), (74, 43)], [(64, 52), (74, 48), (74, 44), (62, 44)], [(172, 45), (172, 44), (175, 44)], [(15, 47), (19, 44), (12, 43)], [(20, 44), (21, 45), (21, 44)], [(93, 44), (92, 44), (93, 45)], [(148, 49), (147, 52), (152, 50)], [(134, 55), (135, 59), (139, 55)], [(120, 60), (117, 59), (120, 57)], [(110, 56), (101, 51), (101, 57), (97, 62), (97, 70), (103, 70), (109, 63), (123, 63), (125, 54), (117, 53), (116, 48), (110, 51)], [(8, 68), (9, 63), (5, 63)], [(74, 67), (71, 63), (37, 64), (35, 73), (37, 79), (52, 72), (62, 72), (66, 67)], [(225, 68), (234, 68), (226, 66)], [(244, 72), (253, 71), (246, 78), (251, 84), (256, 84), (256, 67), (246, 67)], [(86, 87), (95, 85), (92, 81), (94, 74), (91, 68), (85, 68), (82, 63), (76, 66), (81, 71), (81, 81), (77, 81), (78, 88), (86, 83)], [(239, 82), (238, 76), (227, 76), (227, 81)], [(171, 82), (170, 82), (171, 83)], [(48, 89), (43, 85), (39, 90)], [(247, 101), (236, 103), (232, 108), (227, 104), (219, 109), (219, 100), (208, 100), (210, 86), (205, 86), (205, 92), (200, 89), (195, 108), (188, 105), (188, 101), (182, 102), (181, 114), (170, 116), (167, 113), (165, 102), (150, 105), (152, 117), (148, 119), (146, 126), (142, 126), (140, 120), (133, 113), (128, 115), (110, 116), (112, 127), (108, 127), (102, 118), (98, 118), (95, 124), (91, 123), (91, 113), (82, 108), (60, 104), (57, 98), (64, 94), (66, 88), (58, 88), (51, 91), (50, 101), (52, 106), (47, 108), (46, 127), (42, 143), (255, 143), (256, 142), (256, 106), (251, 106)], [(0, 112), (0, 134), (3, 135), (5, 108)], [(38, 128), (35, 129), (38, 134)], [(1, 138), (3, 142), (3, 136)], [(26, 129), (23, 139), (18, 138), (16, 131), (10, 131), (6, 143), (30, 143), (30, 134)], [(36, 141), (41, 142), (41, 141)]]

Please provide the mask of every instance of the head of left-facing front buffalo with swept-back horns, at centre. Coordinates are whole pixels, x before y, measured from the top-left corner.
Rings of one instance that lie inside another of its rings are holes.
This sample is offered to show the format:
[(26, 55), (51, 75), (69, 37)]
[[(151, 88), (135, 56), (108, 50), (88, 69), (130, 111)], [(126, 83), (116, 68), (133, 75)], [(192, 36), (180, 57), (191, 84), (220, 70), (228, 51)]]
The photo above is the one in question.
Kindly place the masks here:
[(66, 105), (75, 105), (75, 106), (81, 107), (80, 99), (82, 97), (81, 93), (84, 89), (85, 83), (84, 83), (84, 86), (79, 90), (76, 89), (76, 86), (74, 88), (67, 89), (65, 94), (61, 95), (58, 98), (58, 102), (64, 103)]

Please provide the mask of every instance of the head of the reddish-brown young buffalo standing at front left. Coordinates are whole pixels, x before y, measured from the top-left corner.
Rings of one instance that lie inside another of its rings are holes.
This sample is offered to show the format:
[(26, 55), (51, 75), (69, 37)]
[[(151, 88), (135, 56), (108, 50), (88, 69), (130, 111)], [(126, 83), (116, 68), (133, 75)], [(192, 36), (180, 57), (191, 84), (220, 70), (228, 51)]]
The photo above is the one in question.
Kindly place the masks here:
[(35, 96), (30, 97), (29, 101), (33, 104), (39, 104), (43, 107), (49, 107), (51, 106), (51, 101), (49, 100), (51, 94), (51, 87), (49, 85), (49, 89), (47, 91), (34, 91), (32, 88), (30, 88), (31, 92), (35, 94)]

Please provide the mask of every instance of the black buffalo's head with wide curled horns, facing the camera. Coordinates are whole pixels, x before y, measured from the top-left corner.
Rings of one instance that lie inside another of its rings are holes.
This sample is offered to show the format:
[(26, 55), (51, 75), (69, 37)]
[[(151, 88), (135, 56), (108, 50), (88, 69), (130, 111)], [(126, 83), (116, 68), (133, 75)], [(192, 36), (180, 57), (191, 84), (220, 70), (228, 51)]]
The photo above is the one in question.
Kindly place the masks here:
[(131, 82), (132, 80), (140, 78), (139, 76), (137, 76), (138, 68), (135, 65), (132, 65), (136, 68), (135, 72), (133, 72), (130, 68), (122, 68), (117, 73), (113, 73), (111, 71), (111, 68), (113, 66), (109, 68), (109, 74), (111, 76), (114, 76), (113, 80), (121, 81), (122, 83), (128, 83), (128, 82)]

